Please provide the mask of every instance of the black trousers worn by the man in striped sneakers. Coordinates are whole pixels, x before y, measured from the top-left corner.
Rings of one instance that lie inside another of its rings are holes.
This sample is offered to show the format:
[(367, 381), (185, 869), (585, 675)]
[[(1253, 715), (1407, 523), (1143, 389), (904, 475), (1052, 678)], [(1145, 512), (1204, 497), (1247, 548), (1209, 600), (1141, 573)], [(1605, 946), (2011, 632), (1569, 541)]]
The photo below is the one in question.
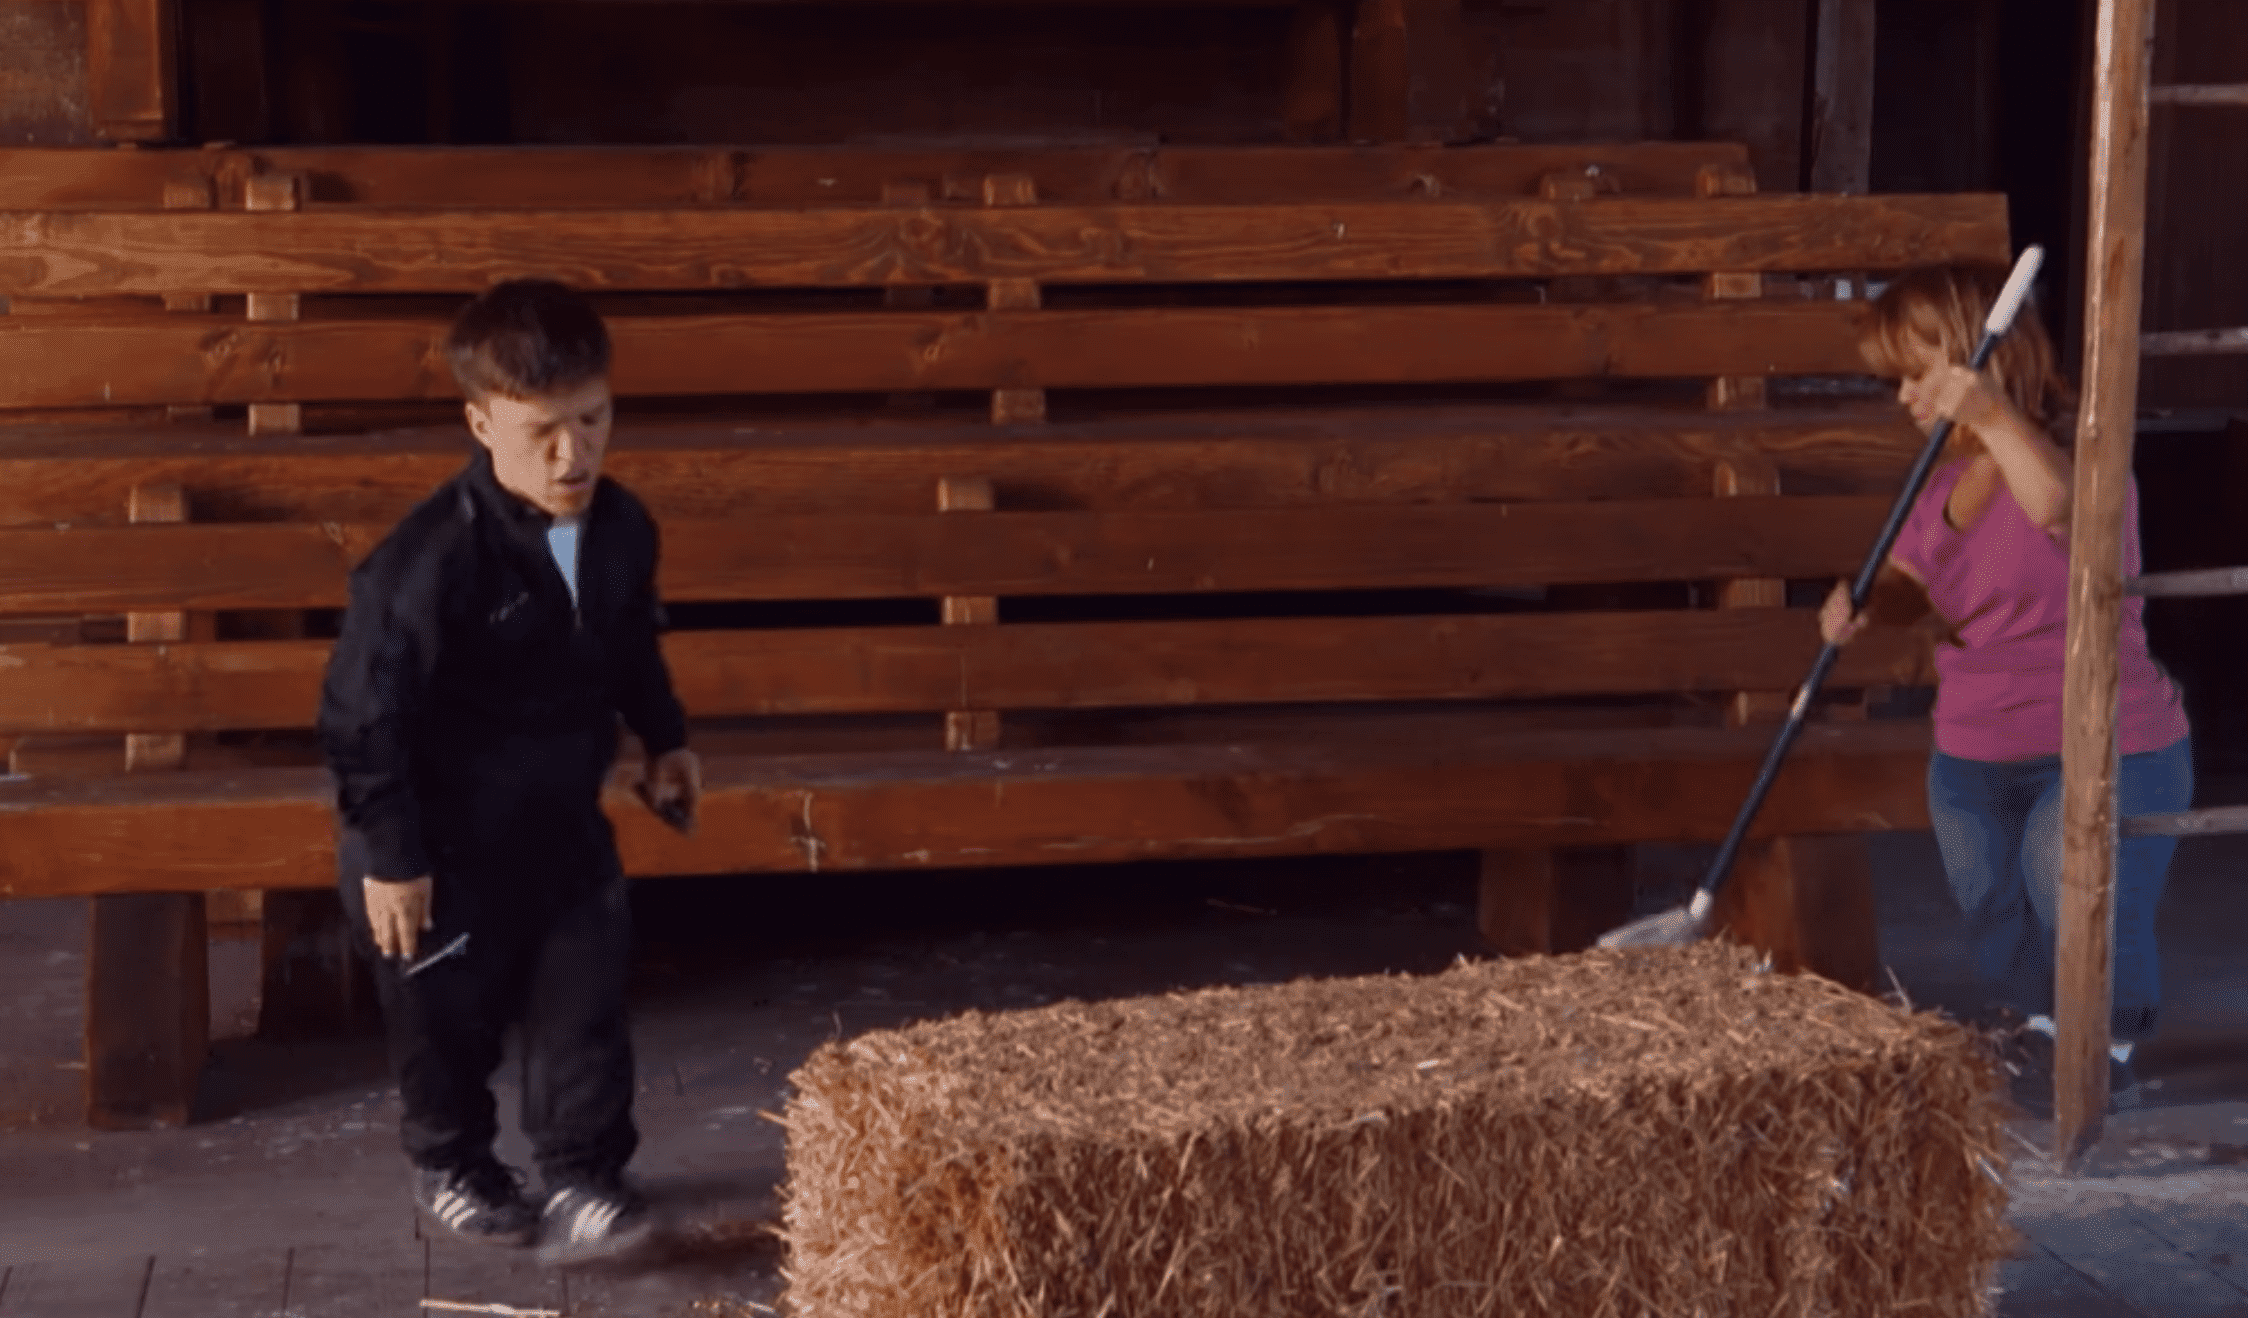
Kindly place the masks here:
[(375, 954), (366, 927), (366, 848), (342, 832), (337, 884), (375, 967), (391, 1068), (405, 1100), (400, 1138), (420, 1167), (461, 1167), (499, 1134), (492, 1073), (508, 1026), (522, 1028), (524, 1134), (549, 1185), (614, 1176), (641, 1136), (632, 1125), (632, 906), (625, 875), (438, 875), (436, 929), (416, 958), (461, 933), (468, 947), (416, 976)]

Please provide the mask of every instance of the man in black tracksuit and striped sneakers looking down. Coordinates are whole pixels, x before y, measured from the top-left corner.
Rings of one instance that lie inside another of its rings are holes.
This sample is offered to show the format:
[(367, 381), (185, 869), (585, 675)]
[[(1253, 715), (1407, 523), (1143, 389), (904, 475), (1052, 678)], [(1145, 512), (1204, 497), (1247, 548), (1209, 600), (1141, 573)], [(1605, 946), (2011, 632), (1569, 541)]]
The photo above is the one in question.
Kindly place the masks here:
[[(681, 830), (701, 771), (656, 646), (656, 524), (600, 477), (600, 317), (560, 283), (501, 283), (447, 355), (479, 450), (351, 574), (319, 733), (416, 1203), (468, 1239), (544, 1235), (560, 1262), (647, 1230), (623, 1179), (632, 922), (600, 810), (618, 715), (647, 751), (645, 798)], [(492, 1154), (508, 1026), (544, 1206)]]

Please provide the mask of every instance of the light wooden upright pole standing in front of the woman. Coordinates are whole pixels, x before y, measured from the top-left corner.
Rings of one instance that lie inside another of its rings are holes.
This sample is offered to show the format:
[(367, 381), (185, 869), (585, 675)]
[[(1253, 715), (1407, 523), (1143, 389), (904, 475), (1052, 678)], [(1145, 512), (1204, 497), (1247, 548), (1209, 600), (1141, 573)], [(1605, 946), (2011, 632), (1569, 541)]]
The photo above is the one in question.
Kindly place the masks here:
[(2106, 1118), (2115, 918), (2115, 641), (2122, 513), (2138, 423), (2140, 274), (2147, 254), (2151, 0), (2100, 0), (2084, 304), (2084, 409), (2068, 526), (2068, 659), (2061, 679), (2059, 1041), (2052, 1154), (2064, 1167)]

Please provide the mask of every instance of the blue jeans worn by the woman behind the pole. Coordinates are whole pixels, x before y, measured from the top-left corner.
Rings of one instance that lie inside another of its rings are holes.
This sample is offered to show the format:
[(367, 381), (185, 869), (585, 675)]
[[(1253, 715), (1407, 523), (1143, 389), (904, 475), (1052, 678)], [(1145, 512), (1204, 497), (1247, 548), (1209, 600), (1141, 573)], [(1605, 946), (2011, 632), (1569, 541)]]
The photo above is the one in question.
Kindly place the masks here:
[[(2192, 738), (2120, 756), (2118, 816), (2187, 810), (2194, 801)], [(1976, 978), (1994, 1005), (2052, 1014), (2052, 936), (2061, 918), (2061, 758), (1929, 760), (1929, 816), (1945, 877), (1967, 918)], [(2163, 900), (2174, 837), (2124, 837), (2115, 846), (2113, 1039), (2154, 1035), (2163, 974), (2154, 909)]]

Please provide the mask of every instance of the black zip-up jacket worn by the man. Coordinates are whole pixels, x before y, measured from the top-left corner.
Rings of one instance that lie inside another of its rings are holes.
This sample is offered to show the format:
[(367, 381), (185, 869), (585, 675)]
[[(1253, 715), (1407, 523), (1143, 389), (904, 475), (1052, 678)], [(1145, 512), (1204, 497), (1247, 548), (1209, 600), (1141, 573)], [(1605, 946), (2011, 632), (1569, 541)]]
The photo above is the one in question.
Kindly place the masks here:
[(378, 879), (591, 877), (616, 864), (600, 787), (618, 715), (650, 756), (686, 744), (647, 508), (596, 486), (575, 605), (549, 526), (477, 450), (351, 574), (319, 738)]

